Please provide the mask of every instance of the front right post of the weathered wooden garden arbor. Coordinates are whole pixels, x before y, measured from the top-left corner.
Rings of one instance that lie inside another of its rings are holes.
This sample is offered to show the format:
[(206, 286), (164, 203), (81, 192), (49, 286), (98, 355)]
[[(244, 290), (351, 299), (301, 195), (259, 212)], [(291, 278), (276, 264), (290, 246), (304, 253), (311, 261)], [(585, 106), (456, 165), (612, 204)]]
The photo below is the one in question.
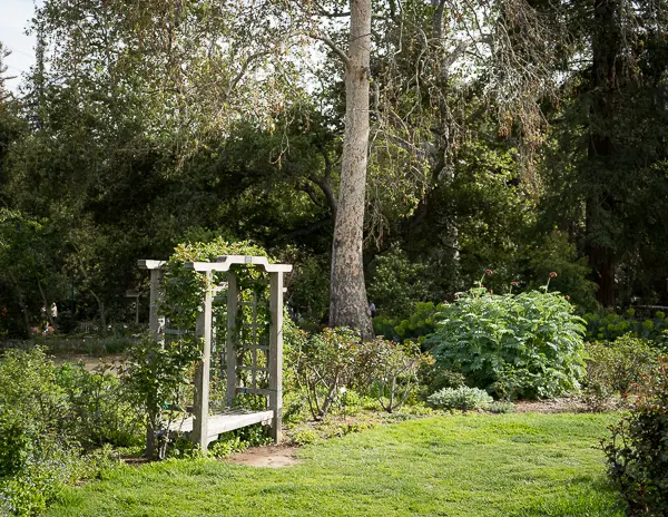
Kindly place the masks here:
[(272, 438), (276, 443), (283, 435), (283, 273), (269, 273), (269, 409), (274, 411)]

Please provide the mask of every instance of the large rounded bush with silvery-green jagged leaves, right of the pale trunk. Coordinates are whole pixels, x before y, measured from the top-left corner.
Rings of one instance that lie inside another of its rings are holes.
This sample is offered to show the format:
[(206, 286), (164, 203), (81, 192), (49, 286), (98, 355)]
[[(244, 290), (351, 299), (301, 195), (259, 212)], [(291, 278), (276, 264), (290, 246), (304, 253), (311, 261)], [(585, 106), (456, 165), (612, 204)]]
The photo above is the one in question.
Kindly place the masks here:
[(440, 313), (428, 340), (441, 368), (505, 398), (547, 398), (579, 388), (582, 320), (559, 293), (492, 295), (473, 289)]

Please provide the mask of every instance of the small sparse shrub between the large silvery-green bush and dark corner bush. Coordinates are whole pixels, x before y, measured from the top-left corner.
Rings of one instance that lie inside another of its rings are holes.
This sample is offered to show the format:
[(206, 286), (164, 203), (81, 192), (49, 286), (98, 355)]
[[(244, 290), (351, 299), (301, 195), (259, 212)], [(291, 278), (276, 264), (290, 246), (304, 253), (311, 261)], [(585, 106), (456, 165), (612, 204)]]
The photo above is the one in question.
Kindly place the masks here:
[(658, 359), (658, 352), (650, 342), (630, 333), (611, 343), (589, 343), (587, 355), (582, 396), (593, 411), (606, 409), (615, 397), (628, 393), (642, 375), (656, 367)]

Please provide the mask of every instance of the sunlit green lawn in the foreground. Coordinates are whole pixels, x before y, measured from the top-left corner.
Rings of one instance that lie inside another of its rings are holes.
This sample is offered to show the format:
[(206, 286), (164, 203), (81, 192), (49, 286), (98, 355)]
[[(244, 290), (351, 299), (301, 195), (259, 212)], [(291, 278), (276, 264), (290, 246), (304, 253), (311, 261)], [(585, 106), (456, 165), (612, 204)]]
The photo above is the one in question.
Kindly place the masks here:
[(49, 516), (622, 516), (596, 448), (616, 416), (470, 414), (381, 426), (284, 469), (125, 467)]

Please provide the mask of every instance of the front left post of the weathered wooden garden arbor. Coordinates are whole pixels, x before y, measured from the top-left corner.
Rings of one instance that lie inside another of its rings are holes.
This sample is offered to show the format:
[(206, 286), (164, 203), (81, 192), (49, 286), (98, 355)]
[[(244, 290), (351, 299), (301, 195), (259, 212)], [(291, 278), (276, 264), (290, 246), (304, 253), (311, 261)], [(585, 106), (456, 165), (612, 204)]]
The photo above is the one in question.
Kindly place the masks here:
[(195, 373), (195, 404), (193, 414), (193, 438), (199, 445), (203, 452), (208, 447), (208, 402), (209, 402), (209, 377), (212, 360), (212, 272), (206, 273), (206, 294), (204, 303), (197, 313), (195, 338), (203, 342), (202, 361)]

